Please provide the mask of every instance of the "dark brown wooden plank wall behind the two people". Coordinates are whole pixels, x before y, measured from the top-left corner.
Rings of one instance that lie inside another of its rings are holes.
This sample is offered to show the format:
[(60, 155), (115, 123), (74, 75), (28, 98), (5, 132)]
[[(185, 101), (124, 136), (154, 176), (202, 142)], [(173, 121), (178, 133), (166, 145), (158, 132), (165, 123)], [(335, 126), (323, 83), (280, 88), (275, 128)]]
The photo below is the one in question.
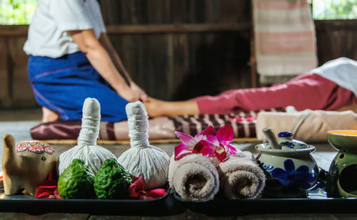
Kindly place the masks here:
[[(249, 0), (101, 0), (132, 78), (154, 98), (183, 100), (251, 86)], [(357, 60), (353, 21), (316, 21), (319, 63)], [(0, 108), (36, 107), (22, 51), (27, 26), (0, 26)]]

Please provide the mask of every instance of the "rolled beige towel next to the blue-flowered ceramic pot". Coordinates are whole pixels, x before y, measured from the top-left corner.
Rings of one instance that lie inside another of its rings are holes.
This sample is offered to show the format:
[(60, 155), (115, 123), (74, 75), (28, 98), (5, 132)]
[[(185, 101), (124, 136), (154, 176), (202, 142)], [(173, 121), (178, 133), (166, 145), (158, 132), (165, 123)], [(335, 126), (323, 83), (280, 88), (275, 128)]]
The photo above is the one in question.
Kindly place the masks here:
[(240, 152), (217, 165), (220, 185), (228, 199), (255, 199), (266, 177), (250, 152)]

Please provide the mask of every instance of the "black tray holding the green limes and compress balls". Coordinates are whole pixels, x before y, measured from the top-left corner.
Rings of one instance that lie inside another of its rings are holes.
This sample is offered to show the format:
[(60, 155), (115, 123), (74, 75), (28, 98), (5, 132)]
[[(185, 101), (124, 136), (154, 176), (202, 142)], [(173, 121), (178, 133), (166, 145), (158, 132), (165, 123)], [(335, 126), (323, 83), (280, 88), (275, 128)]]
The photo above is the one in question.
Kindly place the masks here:
[(34, 199), (28, 195), (4, 194), (0, 199), (0, 212), (86, 213), (97, 215), (166, 216), (182, 212), (170, 197), (171, 189), (164, 197), (152, 200), (139, 199)]

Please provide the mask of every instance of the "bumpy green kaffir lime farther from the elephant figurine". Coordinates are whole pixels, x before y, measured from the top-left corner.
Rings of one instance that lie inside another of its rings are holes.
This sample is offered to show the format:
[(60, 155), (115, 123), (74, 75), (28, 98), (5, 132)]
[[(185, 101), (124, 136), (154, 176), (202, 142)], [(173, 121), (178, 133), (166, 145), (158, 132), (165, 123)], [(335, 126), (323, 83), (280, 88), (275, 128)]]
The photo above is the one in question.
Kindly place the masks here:
[(94, 178), (94, 191), (99, 199), (123, 199), (131, 182), (131, 174), (116, 159), (106, 159)]

